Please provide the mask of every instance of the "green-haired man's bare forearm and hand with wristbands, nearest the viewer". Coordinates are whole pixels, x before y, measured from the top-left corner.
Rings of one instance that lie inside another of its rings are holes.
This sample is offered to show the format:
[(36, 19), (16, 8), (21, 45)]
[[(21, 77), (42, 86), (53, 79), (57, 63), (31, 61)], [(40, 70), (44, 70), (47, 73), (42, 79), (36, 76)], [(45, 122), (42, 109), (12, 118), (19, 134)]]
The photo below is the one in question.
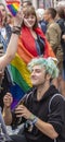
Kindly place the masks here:
[(44, 122), (43, 120), (32, 115), (24, 105), (18, 105), (18, 107), (15, 109), (15, 114), (16, 117), (24, 117), (29, 121), (36, 121), (34, 125), (36, 125), (36, 127), (49, 138), (57, 138), (58, 134), (51, 123)]

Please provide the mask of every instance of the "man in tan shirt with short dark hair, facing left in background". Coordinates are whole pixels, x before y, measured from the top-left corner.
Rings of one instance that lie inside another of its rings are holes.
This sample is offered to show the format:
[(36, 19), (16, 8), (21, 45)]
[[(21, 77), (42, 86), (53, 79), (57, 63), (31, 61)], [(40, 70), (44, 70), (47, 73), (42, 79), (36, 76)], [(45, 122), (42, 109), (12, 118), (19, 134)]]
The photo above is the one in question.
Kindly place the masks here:
[(56, 10), (54, 8), (49, 8), (44, 12), (44, 20), (48, 22), (48, 28), (46, 33), (46, 37), (49, 40), (56, 58), (57, 58), (57, 66), (60, 69), (60, 81), (54, 80), (54, 85), (61, 90), (61, 85), (58, 82), (62, 81), (62, 70), (63, 70), (63, 49), (61, 45), (61, 35), (62, 31), (60, 25), (55, 22)]

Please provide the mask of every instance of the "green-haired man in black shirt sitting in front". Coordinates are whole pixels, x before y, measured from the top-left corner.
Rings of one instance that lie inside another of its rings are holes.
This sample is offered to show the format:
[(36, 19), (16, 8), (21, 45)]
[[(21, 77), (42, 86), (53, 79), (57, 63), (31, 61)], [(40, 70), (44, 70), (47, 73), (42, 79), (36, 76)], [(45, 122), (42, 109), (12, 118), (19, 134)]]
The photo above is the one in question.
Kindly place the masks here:
[[(13, 113), (12, 96), (5, 95), (3, 99), (5, 123), (24, 122), (24, 133), (11, 135), (12, 142), (56, 142), (61, 138), (65, 121), (64, 99), (50, 80), (58, 76), (58, 69), (52, 58), (42, 57), (32, 59), (28, 69), (32, 88), (22, 98)], [(49, 111), (49, 103), (53, 96)]]

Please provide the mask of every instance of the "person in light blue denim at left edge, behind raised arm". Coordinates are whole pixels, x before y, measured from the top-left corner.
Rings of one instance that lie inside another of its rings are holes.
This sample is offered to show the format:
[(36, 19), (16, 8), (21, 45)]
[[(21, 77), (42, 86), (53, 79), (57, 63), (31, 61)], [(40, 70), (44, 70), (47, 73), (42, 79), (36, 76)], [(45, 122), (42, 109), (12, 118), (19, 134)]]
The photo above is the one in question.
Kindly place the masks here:
[(0, 22), (0, 43), (3, 45), (4, 51), (11, 37), (11, 27), (6, 24), (6, 10), (3, 3), (0, 3), (0, 14), (2, 21)]

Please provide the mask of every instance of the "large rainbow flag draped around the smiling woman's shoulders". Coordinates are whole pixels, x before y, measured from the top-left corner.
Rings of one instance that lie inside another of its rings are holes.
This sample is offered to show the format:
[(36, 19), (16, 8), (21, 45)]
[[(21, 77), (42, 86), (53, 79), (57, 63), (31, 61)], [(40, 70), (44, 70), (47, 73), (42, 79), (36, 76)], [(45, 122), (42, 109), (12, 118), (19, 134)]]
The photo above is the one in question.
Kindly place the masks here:
[[(46, 51), (43, 57), (54, 57), (54, 54), (51, 50), (43, 33), (39, 28), (36, 29), (36, 33), (46, 40)], [(39, 57), (35, 39), (27, 27), (22, 27), (22, 34), (18, 38), (17, 52), (11, 62), (11, 73), (14, 81), (14, 85), (11, 88), (11, 93), (13, 94), (12, 108), (15, 107), (24, 94), (32, 86), (27, 63), (35, 57)]]

